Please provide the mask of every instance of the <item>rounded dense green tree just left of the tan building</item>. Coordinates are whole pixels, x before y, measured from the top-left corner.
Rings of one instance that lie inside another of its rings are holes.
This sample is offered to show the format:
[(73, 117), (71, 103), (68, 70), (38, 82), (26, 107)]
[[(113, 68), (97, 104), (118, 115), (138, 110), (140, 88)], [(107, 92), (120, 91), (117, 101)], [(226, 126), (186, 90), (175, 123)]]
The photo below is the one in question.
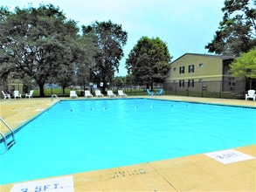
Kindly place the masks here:
[(153, 82), (165, 79), (170, 59), (168, 47), (160, 38), (142, 37), (129, 52), (126, 68), (135, 84), (146, 84), (152, 90)]

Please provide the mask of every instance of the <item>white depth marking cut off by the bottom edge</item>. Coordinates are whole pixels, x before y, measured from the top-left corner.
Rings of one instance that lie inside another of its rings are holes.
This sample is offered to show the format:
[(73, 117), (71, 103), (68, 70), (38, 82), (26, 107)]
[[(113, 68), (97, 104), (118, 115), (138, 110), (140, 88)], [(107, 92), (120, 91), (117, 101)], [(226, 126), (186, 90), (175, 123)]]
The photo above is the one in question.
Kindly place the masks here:
[(74, 192), (73, 175), (39, 180), (34, 182), (21, 182), (14, 184), (10, 192), (51, 191)]

